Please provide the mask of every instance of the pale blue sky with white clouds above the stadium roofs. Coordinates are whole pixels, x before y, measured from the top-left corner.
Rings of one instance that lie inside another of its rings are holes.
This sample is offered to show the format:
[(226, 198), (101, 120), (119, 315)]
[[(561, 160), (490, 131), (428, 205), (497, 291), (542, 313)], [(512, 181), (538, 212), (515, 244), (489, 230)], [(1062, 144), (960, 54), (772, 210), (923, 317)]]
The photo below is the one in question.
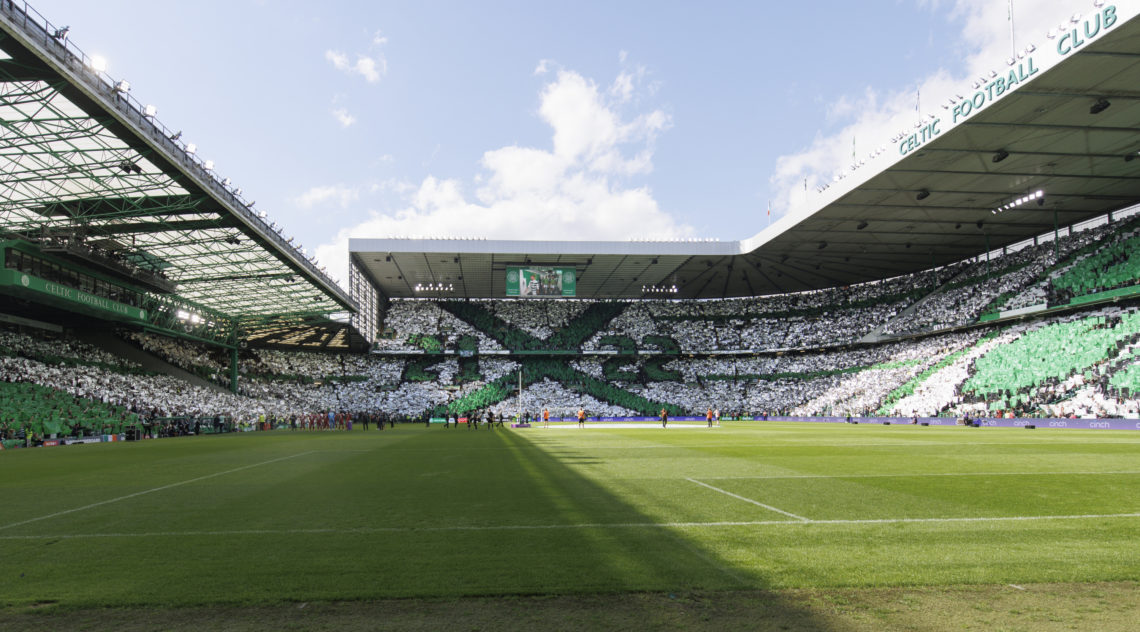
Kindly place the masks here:
[[(345, 278), (349, 236), (738, 240), (1010, 51), (1008, 0), (38, 0)], [(1018, 46), (1091, 0), (1015, 0)]]

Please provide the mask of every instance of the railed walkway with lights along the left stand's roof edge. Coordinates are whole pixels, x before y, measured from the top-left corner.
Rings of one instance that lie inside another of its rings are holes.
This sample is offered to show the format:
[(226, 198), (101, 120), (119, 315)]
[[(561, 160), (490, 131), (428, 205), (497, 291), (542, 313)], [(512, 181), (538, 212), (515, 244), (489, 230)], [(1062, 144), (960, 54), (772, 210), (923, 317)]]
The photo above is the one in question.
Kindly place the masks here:
[(245, 218), (263, 237), (277, 244), (282, 251), (293, 254), (292, 258), (314, 277), (324, 282), (347, 305), (355, 306), (352, 299), (332, 277), (321, 272), (309, 258), (300, 254), (277, 229), (266, 222), (264, 212), (254, 212), (250, 203), (236, 193), (236, 188), (223, 185), (218, 179), (217, 172), (207, 167), (206, 161), (203, 161), (196, 152), (189, 152), (188, 145), (181, 141), (180, 131), (171, 131), (153, 113), (148, 115), (146, 106), (131, 96), (129, 84), (125, 89), (120, 89), (117, 86), (122, 82), (115, 81), (105, 71), (96, 70), (93, 59), (67, 39), (66, 27), (51, 24), (26, 0), (0, 0), (0, 16), (7, 17), (9, 24), (19, 27), (28, 40), (39, 44), (41, 50), (67, 68), (84, 87), (105, 97), (106, 104), (113, 105), (120, 115), (136, 125), (136, 129), (165, 149), (166, 157), (173, 159), (172, 162), (180, 164), (186, 173), (196, 176), (198, 184), (205, 185), (217, 198), (228, 203), (231, 210)]

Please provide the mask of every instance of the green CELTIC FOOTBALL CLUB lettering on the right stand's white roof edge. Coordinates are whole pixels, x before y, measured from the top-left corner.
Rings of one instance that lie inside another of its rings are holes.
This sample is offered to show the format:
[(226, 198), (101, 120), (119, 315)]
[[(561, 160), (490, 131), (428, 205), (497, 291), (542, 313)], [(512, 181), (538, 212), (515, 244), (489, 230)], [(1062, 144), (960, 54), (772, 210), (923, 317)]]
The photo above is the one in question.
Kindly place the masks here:
[[(1068, 56), (1074, 50), (1097, 39), (1098, 35), (1110, 29), (1117, 21), (1116, 6), (1112, 5), (1086, 17), (1081, 24), (1074, 24), (1070, 30), (1056, 35), (1057, 55), (1059, 57)], [(1050, 37), (1054, 35), (1050, 33)], [(1017, 62), (1016, 66), (1010, 64), (1008, 73), (993, 76), (988, 83), (979, 86), (974, 95), (955, 100), (951, 110), (950, 124), (954, 125), (960, 121), (969, 119), (975, 113), (1001, 98), (1005, 92), (1028, 81), (1040, 71), (1041, 67), (1033, 56), (1027, 56), (1025, 59)], [(896, 137), (899, 155), (905, 156), (940, 135), (944, 131), (942, 123), (942, 119), (931, 119), (928, 122), (917, 124), (914, 132), (904, 136), (902, 139)]]

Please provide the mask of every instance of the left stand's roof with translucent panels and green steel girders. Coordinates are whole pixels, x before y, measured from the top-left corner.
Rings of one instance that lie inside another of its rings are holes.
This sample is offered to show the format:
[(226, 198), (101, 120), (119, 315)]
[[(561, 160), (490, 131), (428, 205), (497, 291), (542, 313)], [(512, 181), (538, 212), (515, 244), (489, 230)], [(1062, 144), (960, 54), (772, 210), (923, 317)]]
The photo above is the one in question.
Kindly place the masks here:
[(0, 51), (0, 237), (82, 243), (245, 332), (357, 309), (66, 27), (2, 2)]

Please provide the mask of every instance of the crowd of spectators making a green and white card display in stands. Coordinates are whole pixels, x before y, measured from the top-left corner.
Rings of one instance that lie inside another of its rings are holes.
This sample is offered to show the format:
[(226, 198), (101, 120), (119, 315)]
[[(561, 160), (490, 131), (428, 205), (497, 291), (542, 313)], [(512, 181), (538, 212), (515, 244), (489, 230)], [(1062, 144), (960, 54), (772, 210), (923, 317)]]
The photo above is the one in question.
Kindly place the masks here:
[[(986, 311), (1066, 300), (1058, 294), (1061, 286), (1100, 290), (1089, 279), (1132, 265), (1129, 240), (1135, 232), (1132, 219), (990, 260), (773, 297), (393, 300), (384, 321), (390, 335), (372, 354), (242, 349), (238, 394), (149, 373), (65, 333), (2, 326), (0, 375), (3, 382), (39, 384), (89, 403), (67, 406), (68, 415), (120, 422), (225, 418), (258, 423), (267, 415), (295, 420), (328, 411), (422, 419), (453, 408), (512, 416), (520, 407), (528, 413), (546, 407), (553, 416), (570, 416), (579, 407), (591, 416), (625, 416), (656, 406), (726, 414), (1135, 416), (1135, 307), (943, 331), (975, 323)], [(1114, 286), (1134, 282), (1127, 270), (1121, 273), (1123, 281), (1114, 277)], [(1060, 354), (1068, 364), (1053, 373), (1025, 378), (1051, 362), (1041, 357), (1048, 345), (1031, 347), (1048, 327), (1068, 337), (1064, 341), (1075, 350)], [(886, 334), (887, 341), (861, 342), (871, 333)], [(923, 335), (910, 338), (917, 333)], [(228, 383), (226, 351), (154, 333), (122, 335), (170, 364)], [(1002, 360), (1007, 373), (993, 378), (995, 370), (982, 368), (1015, 347), (1028, 350), (1021, 359)], [(1085, 347), (1097, 353), (1081, 359), (1076, 351)], [(505, 355), (551, 349), (573, 355)], [(1019, 367), (1019, 362), (1035, 364)], [(514, 380), (528, 371), (520, 402)], [(1019, 374), (1025, 383), (1001, 376), (1007, 374)], [(975, 384), (983, 378), (999, 387), (979, 390)], [(21, 387), (6, 397), (9, 404), (18, 397), (26, 411), (46, 397), (31, 392)], [(5, 432), (19, 423), (3, 421)], [(70, 426), (49, 421), (49, 428), (75, 427), (75, 420)]]

